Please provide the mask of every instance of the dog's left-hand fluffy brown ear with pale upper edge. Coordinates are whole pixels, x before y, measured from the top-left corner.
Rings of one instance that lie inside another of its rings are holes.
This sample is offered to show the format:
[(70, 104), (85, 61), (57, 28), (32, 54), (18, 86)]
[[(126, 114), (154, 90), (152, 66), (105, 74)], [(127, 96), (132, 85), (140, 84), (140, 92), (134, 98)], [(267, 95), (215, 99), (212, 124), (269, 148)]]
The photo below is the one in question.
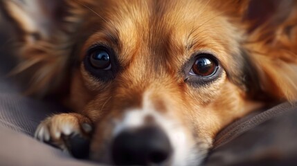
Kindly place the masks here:
[(66, 78), (72, 33), (82, 11), (74, 0), (0, 0), (4, 15), (17, 29), (20, 63), (13, 73), (28, 77), (28, 93), (44, 95)]

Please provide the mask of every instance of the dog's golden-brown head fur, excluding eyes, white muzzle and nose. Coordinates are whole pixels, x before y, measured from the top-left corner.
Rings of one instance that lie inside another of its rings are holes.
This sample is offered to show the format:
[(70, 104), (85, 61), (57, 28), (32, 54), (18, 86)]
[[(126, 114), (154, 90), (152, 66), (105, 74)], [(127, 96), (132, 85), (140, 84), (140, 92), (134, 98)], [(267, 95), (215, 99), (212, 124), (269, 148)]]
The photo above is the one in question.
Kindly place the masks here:
[[(142, 108), (147, 91), (155, 110), (208, 148), (236, 118), (297, 98), (296, 1), (264, 1), (273, 10), (266, 11), (252, 8), (255, 0), (64, 0), (64, 7), (53, 1), (55, 8), (48, 9), (62, 17), (44, 12), (35, 18), (28, 15), (30, 6), (21, 10), (37, 23), (13, 15), (17, 3), (2, 3), (21, 32), (15, 72), (33, 70), (30, 93), (37, 95), (69, 87), (64, 103), (94, 124), (96, 160), (106, 151), (112, 120)], [(119, 64), (114, 80), (101, 82), (82, 63), (94, 44), (114, 49)], [(224, 68), (203, 86), (185, 80), (183, 71), (199, 51), (215, 55)]]

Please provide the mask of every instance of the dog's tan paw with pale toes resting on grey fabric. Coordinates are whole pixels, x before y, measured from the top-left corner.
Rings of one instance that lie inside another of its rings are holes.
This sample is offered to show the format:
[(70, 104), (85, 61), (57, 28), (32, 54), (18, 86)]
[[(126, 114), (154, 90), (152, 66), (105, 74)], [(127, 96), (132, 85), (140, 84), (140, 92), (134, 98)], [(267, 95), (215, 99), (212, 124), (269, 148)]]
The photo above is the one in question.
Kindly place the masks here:
[[(35, 138), (73, 154), (77, 149), (86, 148), (91, 131), (91, 121), (85, 116), (62, 113), (42, 121), (35, 131)], [(74, 142), (80, 142), (81, 145), (75, 145)]]

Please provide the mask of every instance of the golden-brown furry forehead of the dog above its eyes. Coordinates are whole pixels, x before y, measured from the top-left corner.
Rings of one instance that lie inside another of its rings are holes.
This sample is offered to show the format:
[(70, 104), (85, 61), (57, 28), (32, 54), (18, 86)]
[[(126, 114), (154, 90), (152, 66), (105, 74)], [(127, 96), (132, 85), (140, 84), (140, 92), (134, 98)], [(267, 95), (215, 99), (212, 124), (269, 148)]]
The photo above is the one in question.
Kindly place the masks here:
[(156, 65), (181, 66), (199, 51), (227, 62), (227, 54), (238, 47), (231, 24), (205, 1), (106, 1), (92, 10), (100, 28), (89, 43), (113, 38), (123, 66), (137, 56)]

